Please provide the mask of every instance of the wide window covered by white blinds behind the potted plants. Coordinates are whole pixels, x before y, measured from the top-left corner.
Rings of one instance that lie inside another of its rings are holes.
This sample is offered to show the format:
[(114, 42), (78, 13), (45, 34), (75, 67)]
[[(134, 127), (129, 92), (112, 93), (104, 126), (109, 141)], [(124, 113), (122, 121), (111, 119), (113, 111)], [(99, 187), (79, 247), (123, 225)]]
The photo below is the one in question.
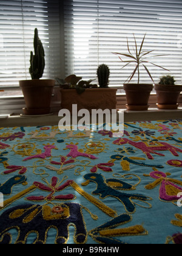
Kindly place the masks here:
[[(95, 79), (98, 65), (105, 63), (110, 86), (121, 86), (133, 66), (121, 69), (123, 64), (112, 52), (127, 52), (126, 38), (132, 49), (133, 33), (138, 44), (147, 33), (144, 50), (167, 54), (153, 62), (182, 82), (181, 0), (1, 0), (0, 90), (5, 88), (8, 95), (12, 90), (15, 95), (19, 80), (30, 79), (35, 27), (45, 49), (44, 79), (73, 73)], [(166, 74), (157, 66), (149, 70), (156, 82)], [(151, 83), (144, 69), (141, 80)]]

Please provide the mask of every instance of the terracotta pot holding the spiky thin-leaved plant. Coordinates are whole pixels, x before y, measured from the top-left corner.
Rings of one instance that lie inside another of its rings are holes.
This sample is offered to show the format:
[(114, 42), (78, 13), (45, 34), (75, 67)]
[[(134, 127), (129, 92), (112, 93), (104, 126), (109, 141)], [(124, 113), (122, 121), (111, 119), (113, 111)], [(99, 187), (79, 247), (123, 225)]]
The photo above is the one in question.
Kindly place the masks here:
[(127, 108), (129, 110), (147, 110), (152, 84), (124, 84)]

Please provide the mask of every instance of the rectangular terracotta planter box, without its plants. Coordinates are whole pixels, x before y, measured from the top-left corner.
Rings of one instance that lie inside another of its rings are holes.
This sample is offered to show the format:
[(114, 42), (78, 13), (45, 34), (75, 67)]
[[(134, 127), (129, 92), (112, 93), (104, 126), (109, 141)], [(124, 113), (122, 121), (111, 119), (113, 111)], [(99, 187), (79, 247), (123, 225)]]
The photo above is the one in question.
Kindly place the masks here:
[(89, 88), (78, 94), (75, 89), (61, 89), (61, 107), (70, 113), (73, 104), (77, 104), (78, 111), (87, 109), (90, 113), (92, 109), (116, 109), (116, 91), (113, 88)]

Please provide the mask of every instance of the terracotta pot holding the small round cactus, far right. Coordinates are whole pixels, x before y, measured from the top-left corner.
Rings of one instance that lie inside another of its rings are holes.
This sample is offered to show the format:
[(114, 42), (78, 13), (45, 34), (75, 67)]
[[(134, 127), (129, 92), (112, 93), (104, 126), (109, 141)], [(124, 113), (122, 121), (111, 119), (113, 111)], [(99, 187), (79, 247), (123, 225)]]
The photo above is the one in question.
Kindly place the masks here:
[(158, 108), (177, 109), (182, 85), (155, 85)]

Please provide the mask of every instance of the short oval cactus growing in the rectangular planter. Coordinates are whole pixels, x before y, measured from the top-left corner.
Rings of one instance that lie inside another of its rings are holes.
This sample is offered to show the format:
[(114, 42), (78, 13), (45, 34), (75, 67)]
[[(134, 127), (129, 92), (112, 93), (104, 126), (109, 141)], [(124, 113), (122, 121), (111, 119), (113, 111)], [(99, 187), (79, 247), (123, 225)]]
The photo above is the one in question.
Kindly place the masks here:
[(106, 88), (109, 85), (110, 70), (105, 64), (100, 65), (97, 69), (99, 87)]

